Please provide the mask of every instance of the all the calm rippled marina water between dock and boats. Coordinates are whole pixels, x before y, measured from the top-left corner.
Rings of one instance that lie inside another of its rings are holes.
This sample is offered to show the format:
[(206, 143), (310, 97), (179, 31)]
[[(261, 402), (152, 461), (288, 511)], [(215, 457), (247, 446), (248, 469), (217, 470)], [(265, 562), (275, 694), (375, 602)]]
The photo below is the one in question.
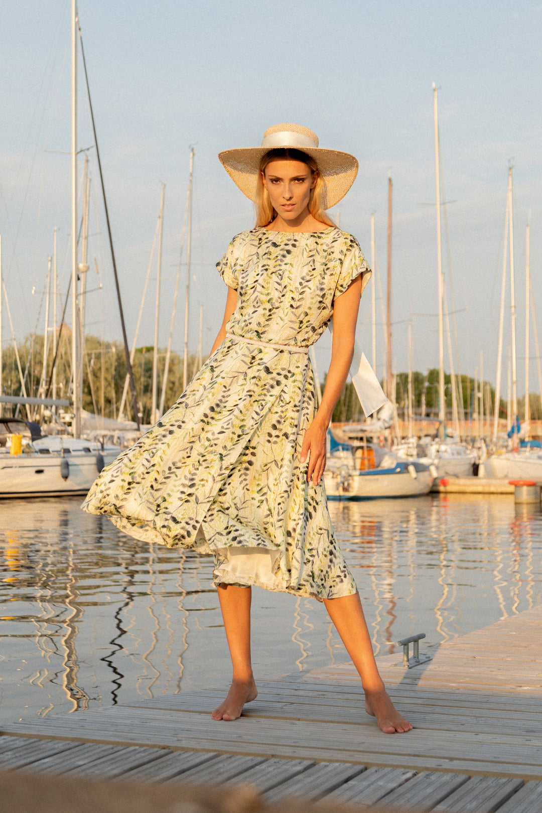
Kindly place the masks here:
[[(230, 675), (212, 559), (147, 546), (80, 498), (0, 502), (0, 723)], [(540, 510), (511, 497), (333, 503), (375, 651), (437, 645), (542, 598)], [(323, 606), (254, 589), (256, 676), (347, 660)]]

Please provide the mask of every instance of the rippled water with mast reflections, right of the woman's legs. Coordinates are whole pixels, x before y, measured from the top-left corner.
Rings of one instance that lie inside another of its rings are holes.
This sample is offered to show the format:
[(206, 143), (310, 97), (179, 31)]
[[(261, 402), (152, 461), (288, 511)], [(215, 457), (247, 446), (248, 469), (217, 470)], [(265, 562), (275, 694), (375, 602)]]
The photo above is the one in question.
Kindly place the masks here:
[(336, 531), (371, 604), (375, 651), (417, 632), (449, 641), (540, 601), (540, 508), (450, 494), (334, 503)]

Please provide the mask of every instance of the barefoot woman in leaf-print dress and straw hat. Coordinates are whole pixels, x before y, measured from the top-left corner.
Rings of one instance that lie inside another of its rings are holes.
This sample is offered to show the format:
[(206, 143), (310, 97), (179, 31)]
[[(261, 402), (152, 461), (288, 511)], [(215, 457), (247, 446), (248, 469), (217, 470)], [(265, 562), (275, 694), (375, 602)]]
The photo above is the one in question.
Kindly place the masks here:
[[(104, 469), (85, 510), (138, 539), (214, 554), (233, 666), (215, 720), (236, 720), (257, 695), (250, 601), (259, 585), (325, 603), (362, 678), (366, 711), (384, 733), (403, 733), (412, 726), (379, 676), (321, 481), (371, 271), (357, 241), (325, 213), (353, 184), (358, 162), (318, 144), (311, 130), (278, 124), (261, 147), (220, 153), (258, 218), (217, 263), (228, 285), (219, 335), (176, 404)], [(332, 314), (317, 410), (308, 349)]]

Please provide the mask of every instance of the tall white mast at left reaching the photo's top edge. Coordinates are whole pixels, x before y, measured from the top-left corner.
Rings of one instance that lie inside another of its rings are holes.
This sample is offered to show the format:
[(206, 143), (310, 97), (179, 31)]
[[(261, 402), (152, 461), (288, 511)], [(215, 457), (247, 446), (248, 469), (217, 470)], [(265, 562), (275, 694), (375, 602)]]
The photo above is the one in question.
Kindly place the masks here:
[(81, 405), (77, 388), (79, 369), (77, 330), (77, 28), (76, 0), (72, 0), (72, 393), (73, 437), (81, 433)]

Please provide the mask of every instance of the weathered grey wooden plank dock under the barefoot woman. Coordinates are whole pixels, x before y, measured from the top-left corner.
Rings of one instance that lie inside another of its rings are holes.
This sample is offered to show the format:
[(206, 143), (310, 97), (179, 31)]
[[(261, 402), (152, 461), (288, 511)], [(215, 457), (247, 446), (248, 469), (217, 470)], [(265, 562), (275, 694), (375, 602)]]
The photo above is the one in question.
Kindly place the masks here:
[(408, 734), (379, 732), (346, 663), (260, 682), (230, 723), (210, 718), (219, 687), (12, 724), (0, 737), (0, 768), (247, 784), (266, 802), (301, 794), (322, 804), (540, 813), (541, 644), (538, 606), (444, 644), (412, 669), (398, 666), (402, 654), (379, 658), (415, 726)]

